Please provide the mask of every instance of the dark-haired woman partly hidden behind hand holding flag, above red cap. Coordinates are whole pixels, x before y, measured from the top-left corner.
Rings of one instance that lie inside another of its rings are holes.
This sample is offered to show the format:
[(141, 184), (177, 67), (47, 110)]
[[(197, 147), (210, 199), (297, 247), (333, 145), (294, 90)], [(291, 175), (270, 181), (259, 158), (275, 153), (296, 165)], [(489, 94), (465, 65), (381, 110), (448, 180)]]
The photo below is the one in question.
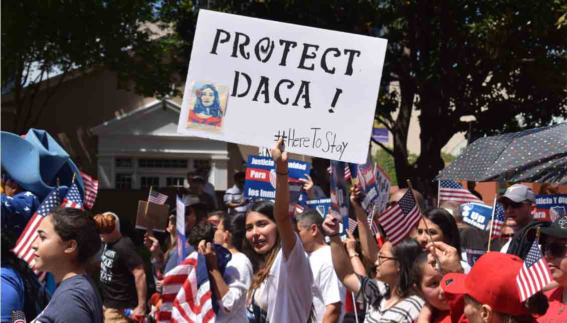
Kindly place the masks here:
[[(417, 230), (413, 230), (410, 236), (417, 239), (424, 249), (431, 241), (446, 243), (454, 247), (461, 257), (459, 228), (455, 218), (445, 209), (434, 207), (426, 210), (417, 225)], [(464, 273), (471, 271), (471, 266), (466, 261), (461, 261), (461, 266), (463, 266)]]

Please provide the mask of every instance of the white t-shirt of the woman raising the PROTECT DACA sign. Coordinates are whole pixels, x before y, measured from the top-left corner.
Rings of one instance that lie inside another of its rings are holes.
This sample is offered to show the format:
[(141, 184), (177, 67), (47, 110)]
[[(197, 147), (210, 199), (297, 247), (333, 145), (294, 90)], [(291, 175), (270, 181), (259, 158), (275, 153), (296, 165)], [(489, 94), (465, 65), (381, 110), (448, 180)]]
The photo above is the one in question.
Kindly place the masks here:
[(311, 266), (297, 233), (295, 246), (287, 260), (283, 248), (278, 252), (269, 276), (256, 290), (254, 300), (266, 310), (270, 323), (307, 322), (313, 302)]

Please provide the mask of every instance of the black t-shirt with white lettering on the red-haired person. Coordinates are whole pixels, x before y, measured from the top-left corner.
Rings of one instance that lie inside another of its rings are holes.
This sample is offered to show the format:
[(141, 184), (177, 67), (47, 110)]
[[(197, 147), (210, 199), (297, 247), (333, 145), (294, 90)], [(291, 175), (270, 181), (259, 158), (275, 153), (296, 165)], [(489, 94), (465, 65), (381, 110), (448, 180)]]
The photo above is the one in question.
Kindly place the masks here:
[(138, 294), (132, 270), (143, 261), (129, 237), (104, 244), (100, 262), (100, 282), (104, 306), (110, 308), (136, 307)]

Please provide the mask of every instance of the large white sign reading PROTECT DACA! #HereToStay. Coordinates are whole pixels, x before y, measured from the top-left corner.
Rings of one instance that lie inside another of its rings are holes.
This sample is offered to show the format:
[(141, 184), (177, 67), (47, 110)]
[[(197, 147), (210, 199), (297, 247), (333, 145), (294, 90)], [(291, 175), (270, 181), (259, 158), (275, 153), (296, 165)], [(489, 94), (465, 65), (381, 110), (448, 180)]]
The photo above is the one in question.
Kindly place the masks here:
[(386, 44), (199, 10), (177, 131), (364, 163)]

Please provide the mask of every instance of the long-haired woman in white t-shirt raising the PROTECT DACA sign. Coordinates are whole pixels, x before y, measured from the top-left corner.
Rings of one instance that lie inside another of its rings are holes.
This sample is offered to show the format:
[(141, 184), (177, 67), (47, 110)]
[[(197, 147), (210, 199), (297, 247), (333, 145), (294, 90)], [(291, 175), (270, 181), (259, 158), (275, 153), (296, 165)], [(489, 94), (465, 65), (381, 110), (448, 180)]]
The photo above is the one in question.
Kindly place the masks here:
[(246, 213), (246, 241), (255, 269), (248, 291), (248, 318), (255, 323), (304, 323), (313, 314), (313, 275), (289, 217), (287, 152), (280, 147), (282, 138), (271, 150), (276, 162), (276, 202), (256, 202)]

